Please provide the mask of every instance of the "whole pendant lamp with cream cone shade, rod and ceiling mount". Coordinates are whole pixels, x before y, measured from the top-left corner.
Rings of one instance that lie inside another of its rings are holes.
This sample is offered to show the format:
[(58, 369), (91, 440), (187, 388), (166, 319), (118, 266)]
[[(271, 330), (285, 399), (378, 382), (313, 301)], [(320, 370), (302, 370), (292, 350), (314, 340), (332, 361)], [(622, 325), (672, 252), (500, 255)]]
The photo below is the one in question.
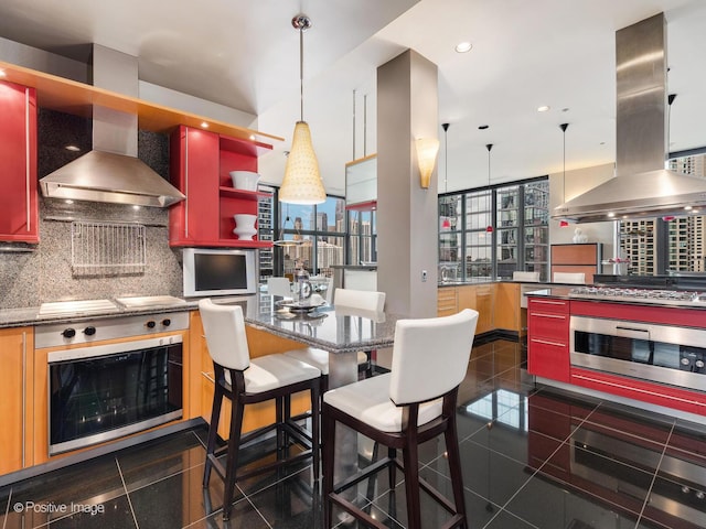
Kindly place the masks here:
[(311, 143), (311, 131), (304, 121), (304, 31), (311, 28), (306, 14), (298, 14), (291, 24), (299, 31), (299, 98), (300, 120), (295, 125), (291, 150), (287, 156), (279, 201), (288, 204), (322, 204), (327, 192), (319, 173), (319, 161)]

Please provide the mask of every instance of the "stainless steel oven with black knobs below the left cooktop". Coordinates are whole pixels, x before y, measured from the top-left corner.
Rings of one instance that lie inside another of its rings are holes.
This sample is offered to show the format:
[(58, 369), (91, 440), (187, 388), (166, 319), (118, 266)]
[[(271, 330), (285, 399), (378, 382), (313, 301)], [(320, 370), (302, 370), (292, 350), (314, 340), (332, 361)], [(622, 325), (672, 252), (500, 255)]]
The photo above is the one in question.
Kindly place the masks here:
[[(188, 328), (186, 313), (115, 317), (84, 325), (83, 332), (54, 325), (38, 336), (43, 346), (56, 345), (51, 344), (56, 339), (85, 344), (47, 354), (50, 455), (182, 417), (183, 337), (164, 333)], [(95, 343), (126, 336), (135, 339)]]

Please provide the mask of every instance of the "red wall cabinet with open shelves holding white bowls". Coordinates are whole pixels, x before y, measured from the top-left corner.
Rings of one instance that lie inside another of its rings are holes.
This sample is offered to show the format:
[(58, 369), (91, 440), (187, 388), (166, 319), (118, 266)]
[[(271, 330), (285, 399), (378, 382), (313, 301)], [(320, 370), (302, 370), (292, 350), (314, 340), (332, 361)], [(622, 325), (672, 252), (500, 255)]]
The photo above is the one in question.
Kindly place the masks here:
[(170, 208), (171, 246), (270, 247), (271, 241), (240, 240), (233, 233), (235, 214), (258, 214), (269, 194), (233, 188), (231, 171), (257, 171), (257, 156), (271, 149), (206, 130), (179, 127), (171, 134), (172, 184), (186, 199)]

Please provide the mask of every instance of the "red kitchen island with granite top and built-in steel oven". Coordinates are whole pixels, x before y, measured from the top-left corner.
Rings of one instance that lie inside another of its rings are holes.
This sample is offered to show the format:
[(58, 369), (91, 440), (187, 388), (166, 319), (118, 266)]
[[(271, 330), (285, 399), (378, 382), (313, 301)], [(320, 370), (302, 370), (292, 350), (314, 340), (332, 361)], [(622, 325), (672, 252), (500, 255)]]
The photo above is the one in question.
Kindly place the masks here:
[(538, 381), (706, 421), (703, 294), (552, 287), (527, 296), (527, 369)]

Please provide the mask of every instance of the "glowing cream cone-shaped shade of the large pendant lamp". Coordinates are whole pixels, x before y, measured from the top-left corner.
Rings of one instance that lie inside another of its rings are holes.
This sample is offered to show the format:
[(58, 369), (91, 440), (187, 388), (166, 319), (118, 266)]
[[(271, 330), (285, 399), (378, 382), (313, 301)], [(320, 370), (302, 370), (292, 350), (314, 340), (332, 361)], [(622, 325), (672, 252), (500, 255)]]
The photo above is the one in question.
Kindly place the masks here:
[(287, 156), (285, 177), (279, 188), (279, 201), (289, 204), (322, 204), (327, 192), (319, 174), (317, 153), (311, 144), (311, 132), (306, 121), (297, 121), (291, 151)]

